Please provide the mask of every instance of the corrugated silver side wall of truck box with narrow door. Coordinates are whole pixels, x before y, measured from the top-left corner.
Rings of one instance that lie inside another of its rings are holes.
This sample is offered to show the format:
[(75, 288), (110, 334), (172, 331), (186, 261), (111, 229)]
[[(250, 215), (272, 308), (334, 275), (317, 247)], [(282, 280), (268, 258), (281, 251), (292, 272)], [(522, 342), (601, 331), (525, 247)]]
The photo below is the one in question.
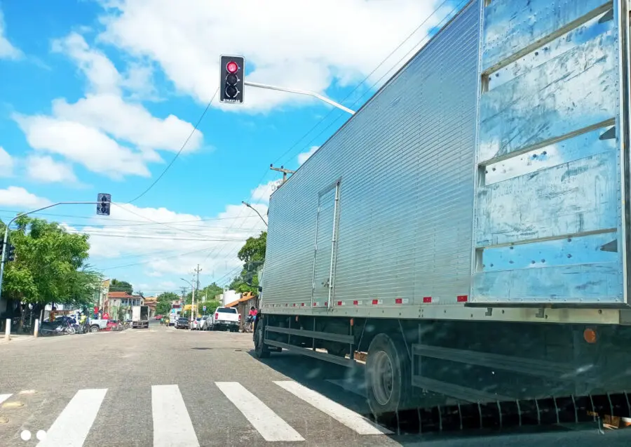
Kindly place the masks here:
[(468, 295), (479, 26), (468, 6), (273, 193), (265, 306)]

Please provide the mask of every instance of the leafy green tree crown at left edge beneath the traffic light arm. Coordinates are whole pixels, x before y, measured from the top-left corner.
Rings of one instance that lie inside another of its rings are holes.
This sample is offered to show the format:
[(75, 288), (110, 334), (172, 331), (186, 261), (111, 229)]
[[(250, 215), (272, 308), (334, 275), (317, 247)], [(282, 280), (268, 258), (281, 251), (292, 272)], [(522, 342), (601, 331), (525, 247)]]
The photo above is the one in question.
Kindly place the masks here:
[[(55, 222), (22, 216), (9, 241), (15, 261), (7, 262), (3, 294), (13, 300), (78, 307), (94, 302), (100, 277), (86, 265), (88, 236), (70, 234)], [(5, 225), (0, 222), (0, 231)]]

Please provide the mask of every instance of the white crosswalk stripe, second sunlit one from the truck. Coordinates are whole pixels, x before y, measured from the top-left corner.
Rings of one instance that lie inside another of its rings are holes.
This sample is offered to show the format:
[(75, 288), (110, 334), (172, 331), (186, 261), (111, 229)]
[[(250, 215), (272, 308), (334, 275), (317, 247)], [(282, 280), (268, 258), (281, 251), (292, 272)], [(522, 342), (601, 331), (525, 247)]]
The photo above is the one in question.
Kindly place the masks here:
[(215, 385), (266, 441), (304, 441), (296, 430), (239, 382), (215, 382)]

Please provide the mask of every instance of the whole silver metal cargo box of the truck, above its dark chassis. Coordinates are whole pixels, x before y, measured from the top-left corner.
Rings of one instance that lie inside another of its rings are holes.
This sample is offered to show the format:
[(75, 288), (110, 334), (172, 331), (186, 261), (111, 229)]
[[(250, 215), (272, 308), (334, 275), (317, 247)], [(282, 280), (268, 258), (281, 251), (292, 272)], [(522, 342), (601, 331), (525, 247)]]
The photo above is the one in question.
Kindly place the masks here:
[(618, 25), (545, 5), (466, 6), (273, 194), (264, 309), (627, 319)]

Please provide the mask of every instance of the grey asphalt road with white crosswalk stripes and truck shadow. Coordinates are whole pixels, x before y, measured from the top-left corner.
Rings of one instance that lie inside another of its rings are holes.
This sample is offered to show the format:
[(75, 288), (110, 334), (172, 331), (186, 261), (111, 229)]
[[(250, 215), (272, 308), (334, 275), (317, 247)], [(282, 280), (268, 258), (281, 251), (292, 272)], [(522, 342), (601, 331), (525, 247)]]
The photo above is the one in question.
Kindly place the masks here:
[[(397, 434), (363, 415), (361, 371), (251, 334), (159, 324), (0, 345), (0, 446), (628, 445), (629, 432)], [(393, 428), (393, 427), (389, 427)], [(23, 438), (29, 439), (24, 440)], [(44, 439), (39, 441), (37, 437)]]

